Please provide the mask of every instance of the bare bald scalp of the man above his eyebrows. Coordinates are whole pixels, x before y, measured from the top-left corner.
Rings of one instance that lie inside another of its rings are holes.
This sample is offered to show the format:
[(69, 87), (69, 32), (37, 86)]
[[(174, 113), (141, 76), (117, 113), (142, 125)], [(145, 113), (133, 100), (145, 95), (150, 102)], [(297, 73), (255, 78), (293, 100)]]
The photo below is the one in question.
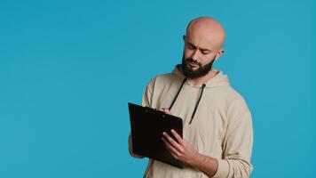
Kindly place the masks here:
[(225, 42), (225, 29), (217, 20), (199, 17), (188, 24), (186, 37), (197, 40), (201, 45), (211, 45), (212, 48), (219, 50)]

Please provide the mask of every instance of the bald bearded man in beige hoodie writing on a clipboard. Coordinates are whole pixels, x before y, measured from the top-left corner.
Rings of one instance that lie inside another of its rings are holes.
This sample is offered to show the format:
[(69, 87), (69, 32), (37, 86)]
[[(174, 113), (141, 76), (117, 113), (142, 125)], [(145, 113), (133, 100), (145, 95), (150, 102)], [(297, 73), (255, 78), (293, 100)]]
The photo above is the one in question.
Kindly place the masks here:
[[(222, 71), (212, 69), (224, 53), (225, 30), (216, 20), (192, 20), (183, 37), (182, 64), (146, 86), (143, 106), (183, 118), (183, 139), (162, 142), (184, 169), (149, 160), (145, 177), (249, 177), (253, 130), (249, 108)], [(129, 139), (130, 141), (130, 139)], [(130, 154), (132, 153), (130, 142)]]

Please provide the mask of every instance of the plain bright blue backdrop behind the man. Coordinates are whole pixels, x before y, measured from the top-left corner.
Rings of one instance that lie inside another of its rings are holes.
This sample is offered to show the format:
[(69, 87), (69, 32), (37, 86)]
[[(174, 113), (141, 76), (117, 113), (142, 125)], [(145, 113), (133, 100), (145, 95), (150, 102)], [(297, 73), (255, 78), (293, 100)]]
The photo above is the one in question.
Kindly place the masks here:
[(186, 24), (225, 26), (216, 63), (248, 101), (252, 177), (316, 173), (313, 0), (0, 2), (0, 177), (141, 177), (127, 102), (180, 62)]

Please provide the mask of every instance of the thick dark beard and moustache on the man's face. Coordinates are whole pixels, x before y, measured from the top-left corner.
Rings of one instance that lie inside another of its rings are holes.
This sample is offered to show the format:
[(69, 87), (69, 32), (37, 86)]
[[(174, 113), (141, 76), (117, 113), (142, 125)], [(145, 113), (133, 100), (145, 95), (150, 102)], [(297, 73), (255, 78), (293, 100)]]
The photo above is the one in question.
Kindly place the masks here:
[[(181, 64), (181, 69), (183, 74), (190, 79), (195, 79), (198, 77), (204, 77), (206, 76), (209, 71), (212, 69), (213, 62), (215, 61), (215, 58), (210, 61), (208, 64), (205, 64), (204, 66), (201, 65), (200, 62), (194, 61), (192, 58), (186, 58), (185, 55), (182, 56), (182, 64)], [(198, 65), (198, 69), (191, 69), (189, 67), (189, 62), (194, 62), (194, 64)]]

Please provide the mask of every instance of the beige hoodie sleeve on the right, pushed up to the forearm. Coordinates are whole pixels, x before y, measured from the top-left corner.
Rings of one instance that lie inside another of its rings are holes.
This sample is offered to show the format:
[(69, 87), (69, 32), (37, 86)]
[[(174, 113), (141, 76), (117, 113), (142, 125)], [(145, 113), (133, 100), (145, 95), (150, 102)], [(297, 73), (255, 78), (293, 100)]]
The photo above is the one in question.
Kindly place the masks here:
[(218, 160), (215, 178), (249, 177), (253, 144), (251, 113), (246, 102), (238, 97), (227, 110), (228, 124), (223, 142), (223, 159)]

